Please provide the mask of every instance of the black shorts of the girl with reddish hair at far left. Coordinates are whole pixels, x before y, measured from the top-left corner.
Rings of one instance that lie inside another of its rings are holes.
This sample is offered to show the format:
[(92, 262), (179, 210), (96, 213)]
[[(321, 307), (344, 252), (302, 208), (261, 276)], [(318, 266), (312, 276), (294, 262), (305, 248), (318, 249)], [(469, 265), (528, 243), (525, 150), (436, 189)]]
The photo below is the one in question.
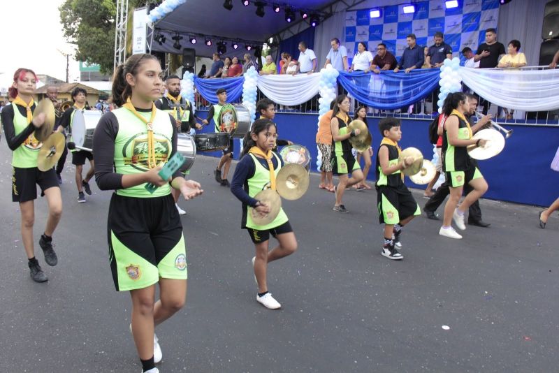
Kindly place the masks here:
[(36, 167), (12, 167), (12, 200), (13, 202), (27, 202), (37, 198), (37, 185), (41, 191), (56, 186), (59, 187), (57, 173), (54, 168), (41, 171)]

